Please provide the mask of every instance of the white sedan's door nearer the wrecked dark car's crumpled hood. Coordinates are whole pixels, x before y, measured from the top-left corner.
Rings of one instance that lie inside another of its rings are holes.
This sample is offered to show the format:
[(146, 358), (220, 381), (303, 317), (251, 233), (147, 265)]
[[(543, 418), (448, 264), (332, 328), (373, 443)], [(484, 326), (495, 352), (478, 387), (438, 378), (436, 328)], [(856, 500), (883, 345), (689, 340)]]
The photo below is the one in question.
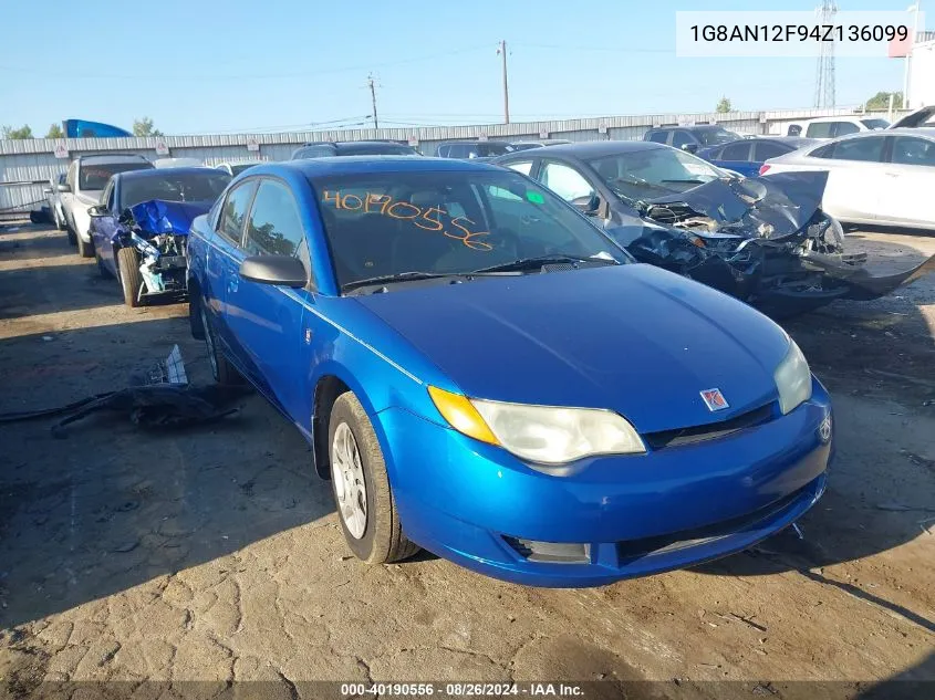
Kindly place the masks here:
[(843, 221), (877, 220), (889, 164), (883, 163), (885, 136), (835, 142), (828, 159), (822, 209)]

